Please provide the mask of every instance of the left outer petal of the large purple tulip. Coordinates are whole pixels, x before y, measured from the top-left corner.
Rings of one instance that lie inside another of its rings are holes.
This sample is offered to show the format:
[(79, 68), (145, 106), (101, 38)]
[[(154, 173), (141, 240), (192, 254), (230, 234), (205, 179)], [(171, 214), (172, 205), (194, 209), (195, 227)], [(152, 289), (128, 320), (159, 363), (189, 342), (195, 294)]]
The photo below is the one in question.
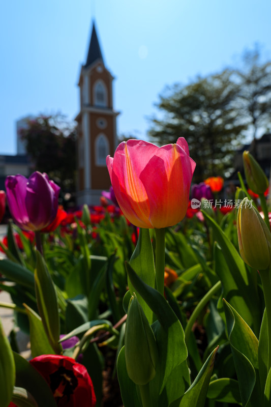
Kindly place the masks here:
[(29, 217), (25, 207), (27, 178), (20, 174), (8, 176), (5, 181), (7, 200), (11, 216), (15, 223), (25, 229), (29, 223)]

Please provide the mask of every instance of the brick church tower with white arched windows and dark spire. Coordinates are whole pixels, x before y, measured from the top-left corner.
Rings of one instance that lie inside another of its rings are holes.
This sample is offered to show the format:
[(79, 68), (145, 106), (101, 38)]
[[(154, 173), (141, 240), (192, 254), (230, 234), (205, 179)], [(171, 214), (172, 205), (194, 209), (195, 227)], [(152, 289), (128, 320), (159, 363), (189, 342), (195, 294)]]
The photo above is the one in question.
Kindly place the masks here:
[(102, 190), (111, 182), (106, 157), (117, 147), (116, 116), (113, 109), (113, 76), (104, 65), (95, 24), (78, 86), (80, 112), (77, 121), (77, 205), (99, 205)]

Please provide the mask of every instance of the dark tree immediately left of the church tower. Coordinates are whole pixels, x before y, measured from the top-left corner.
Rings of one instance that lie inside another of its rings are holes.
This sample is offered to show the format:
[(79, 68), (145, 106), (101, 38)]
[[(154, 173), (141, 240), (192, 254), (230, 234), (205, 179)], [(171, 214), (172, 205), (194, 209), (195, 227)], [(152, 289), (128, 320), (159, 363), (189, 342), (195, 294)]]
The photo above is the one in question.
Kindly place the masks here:
[(21, 130), (26, 151), (35, 169), (46, 172), (62, 187), (63, 192), (75, 191), (76, 144), (75, 128), (62, 115), (37, 117)]

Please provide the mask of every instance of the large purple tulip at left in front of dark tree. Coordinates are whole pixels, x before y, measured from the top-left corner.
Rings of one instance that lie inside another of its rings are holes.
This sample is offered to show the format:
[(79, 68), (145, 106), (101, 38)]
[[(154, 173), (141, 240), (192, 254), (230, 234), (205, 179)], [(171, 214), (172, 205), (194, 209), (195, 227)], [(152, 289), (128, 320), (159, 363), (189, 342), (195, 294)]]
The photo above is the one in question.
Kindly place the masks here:
[(11, 216), (21, 229), (38, 231), (54, 220), (60, 187), (47, 174), (8, 176), (5, 185)]

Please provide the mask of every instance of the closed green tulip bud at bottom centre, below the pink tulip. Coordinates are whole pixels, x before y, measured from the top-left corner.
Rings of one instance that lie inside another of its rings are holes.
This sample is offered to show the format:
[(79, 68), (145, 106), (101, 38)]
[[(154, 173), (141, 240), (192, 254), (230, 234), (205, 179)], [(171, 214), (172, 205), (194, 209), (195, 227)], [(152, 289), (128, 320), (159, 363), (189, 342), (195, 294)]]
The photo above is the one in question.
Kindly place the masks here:
[(130, 300), (125, 329), (125, 360), (130, 379), (145, 385), (154, 379), (158, 351), (152, 328), (134, 294)]

